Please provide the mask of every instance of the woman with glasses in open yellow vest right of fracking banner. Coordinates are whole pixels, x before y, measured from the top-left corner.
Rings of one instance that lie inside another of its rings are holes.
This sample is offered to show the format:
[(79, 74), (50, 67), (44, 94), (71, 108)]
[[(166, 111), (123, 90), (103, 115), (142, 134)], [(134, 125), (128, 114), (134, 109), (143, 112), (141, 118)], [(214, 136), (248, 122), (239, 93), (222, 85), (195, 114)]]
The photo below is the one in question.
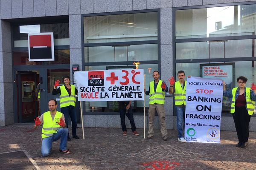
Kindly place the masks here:
[(246, 147), (249, 138), (250, 117), (254, 112), (256, 101), (256, 85), (252, 83), (252, 87), (245, 87), (247, 78), (240, 76), (237, 78), (238, 87), (232, 91), (227, 91), (225, 82), (223, 82), (223, 95), (232, 98), (230, 113), (236, 126), (236, 133), (239, 142), (236, 147)]

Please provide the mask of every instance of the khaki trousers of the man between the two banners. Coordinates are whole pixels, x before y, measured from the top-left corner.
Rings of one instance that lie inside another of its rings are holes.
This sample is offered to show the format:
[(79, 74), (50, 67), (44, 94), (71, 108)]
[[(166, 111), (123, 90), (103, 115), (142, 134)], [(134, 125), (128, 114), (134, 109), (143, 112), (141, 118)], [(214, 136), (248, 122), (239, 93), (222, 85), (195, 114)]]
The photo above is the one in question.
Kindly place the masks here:
[(153, 136), (154, 135), (154, 116), (155, 113), (157, 111), (158, 117), (159, 117), (159, 121), (160, 121), (160, 125), (161, 125), (161, 133), (162, 136), (167, 136), (167, 130), (166, 130), (166, 122), (165, 122), (165, 109), (163, 107), (163, 104), (149, 104), (149, 108), (148, 108), (148, 119), (149, 119), (149, 123), (148, 123), (148, 135), (149, 136)]

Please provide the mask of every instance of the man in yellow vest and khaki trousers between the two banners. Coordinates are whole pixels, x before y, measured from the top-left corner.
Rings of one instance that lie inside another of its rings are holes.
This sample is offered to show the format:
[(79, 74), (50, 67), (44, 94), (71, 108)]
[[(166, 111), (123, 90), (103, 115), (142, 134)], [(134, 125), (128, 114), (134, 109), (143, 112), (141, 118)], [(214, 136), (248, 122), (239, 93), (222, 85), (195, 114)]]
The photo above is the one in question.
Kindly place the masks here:
[(163, 107), (165, 91), (168, 91), (168, 87), (166, 83), (159, 79), (160, 74), (158, 71), (153, 72), (154, 81), (149, 83), (149, 89), (146, 91), (144, 89), (145, 94), (149, 95), (149, 108), (148, 108), (148, 137), (147, 139), (152, 139), (154, 135), (154, 116), (157, 111), (160, 125), (161, 125), (161, 133), (163, 140), (167, 140), (167, 130), (166, 130), (166, 122), (165, 122), (165, 109)]

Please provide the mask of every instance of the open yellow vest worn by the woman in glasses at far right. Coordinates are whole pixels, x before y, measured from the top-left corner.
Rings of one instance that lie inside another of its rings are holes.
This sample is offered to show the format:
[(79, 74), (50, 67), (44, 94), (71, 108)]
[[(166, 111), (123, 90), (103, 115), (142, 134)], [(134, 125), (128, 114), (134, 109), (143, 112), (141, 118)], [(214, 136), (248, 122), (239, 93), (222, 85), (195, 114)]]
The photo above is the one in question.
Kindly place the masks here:
[[(236, 95), (237, 88), (232, 89), (232, 103), (230, 113), (235, 113), (235, 95)], [(255, 108), (255, 101), (250, 99), (250, 88), (245, 88), (245, 99), (246, 99), (246, 107), (249, 115), (252, 115)]]

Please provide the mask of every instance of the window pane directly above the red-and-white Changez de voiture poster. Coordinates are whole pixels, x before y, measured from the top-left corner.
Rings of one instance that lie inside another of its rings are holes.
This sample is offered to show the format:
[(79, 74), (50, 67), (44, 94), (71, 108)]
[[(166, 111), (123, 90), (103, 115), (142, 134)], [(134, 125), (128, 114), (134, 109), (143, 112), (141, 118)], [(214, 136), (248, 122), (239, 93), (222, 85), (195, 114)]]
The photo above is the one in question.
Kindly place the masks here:
[(176, 43), (176, 59), (253, 57), (255, 39)]

